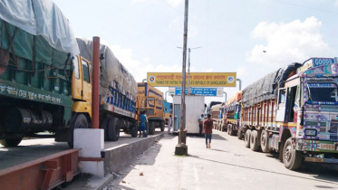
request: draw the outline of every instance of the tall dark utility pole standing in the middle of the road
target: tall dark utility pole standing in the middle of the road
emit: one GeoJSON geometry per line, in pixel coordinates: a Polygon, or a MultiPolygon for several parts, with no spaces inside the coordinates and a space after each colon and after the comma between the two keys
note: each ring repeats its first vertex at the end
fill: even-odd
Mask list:
{"type": "Polygon", "coordinates": [[[179,145],[175,148],[175,155],[188,156],[188,147],[186,145],[186,62],[187,62],[187,39],[188,39],[188,0],[185,0],[184,11],[184,33],[183,33],[183,62],[182,62],[182,92],[180,93],[180,125],[179,125],[179,145]]]}

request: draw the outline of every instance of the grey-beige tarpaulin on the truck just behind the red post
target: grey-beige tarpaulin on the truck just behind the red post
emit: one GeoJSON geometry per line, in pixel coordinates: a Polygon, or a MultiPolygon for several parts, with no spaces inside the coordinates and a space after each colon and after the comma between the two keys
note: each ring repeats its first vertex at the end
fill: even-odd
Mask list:
{"type": "MultiPolygon", "coordinates": [[[[83,58],[92,62],[92,40],[77,38],[80,54],[83,58]]],[[[134,77],[126,70],[126,68],[114,56],[113,52],[107,45],[100,45],[100,54],[103,54],[104,59],[101,60],[101,81],[100,95],[106,96],[109,93],[109,86],[119,88],[119,90],[128,92],[132,97],[137,96],[137,83],[134,77]],[[117,83],[117,86],[115,86],[117,83]]]]}

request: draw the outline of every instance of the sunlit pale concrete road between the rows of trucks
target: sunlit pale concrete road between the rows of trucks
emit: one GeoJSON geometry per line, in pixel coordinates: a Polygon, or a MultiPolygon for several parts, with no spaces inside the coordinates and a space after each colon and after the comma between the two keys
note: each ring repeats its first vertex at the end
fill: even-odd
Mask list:
{"type": "Polygon", "coordinates": [[[174,156],[178,138],[166,135],[107,189],[338,188],[337,166],[306,164],[290,171],[276,155],[253,152],[243,140],[215,130],[211,149],[205,147],[204,138],[187,140],[189,157],[174,156]]]}

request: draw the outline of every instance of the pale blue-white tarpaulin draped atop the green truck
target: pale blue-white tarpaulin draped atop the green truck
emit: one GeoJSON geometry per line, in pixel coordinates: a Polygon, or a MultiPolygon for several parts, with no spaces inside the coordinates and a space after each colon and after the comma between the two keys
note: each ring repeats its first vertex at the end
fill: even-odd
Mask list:
{"type": "Polygon", "coordinates": [[[52,0],[0,0],[0,19],[42,36],[58,51],[80,53],[68,19],[52,0]]]}

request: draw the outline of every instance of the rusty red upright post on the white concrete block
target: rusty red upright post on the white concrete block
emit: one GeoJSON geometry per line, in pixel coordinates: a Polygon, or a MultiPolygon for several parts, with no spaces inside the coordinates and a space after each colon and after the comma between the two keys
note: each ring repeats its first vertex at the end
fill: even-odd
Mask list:
{"type": "Polygon", "coordinates": [[[100,37],[92,37],[92,128],[99,128],[100,37]]]}

